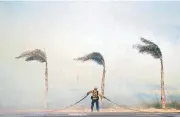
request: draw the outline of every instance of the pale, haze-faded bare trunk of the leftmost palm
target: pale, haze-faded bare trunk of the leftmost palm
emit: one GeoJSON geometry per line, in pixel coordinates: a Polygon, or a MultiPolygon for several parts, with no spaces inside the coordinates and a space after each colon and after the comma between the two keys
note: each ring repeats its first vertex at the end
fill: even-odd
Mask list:
{"type": "Polygon", "coordinates": [[[44,105],[47,108],[47,94],[48,94],[48,63],[45,64],[45,96],[44,96],[44,105]]]}

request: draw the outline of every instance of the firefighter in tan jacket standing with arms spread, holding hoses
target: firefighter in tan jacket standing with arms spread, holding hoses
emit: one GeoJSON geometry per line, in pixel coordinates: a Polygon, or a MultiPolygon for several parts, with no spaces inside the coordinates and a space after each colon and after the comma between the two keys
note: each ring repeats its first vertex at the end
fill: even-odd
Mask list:
{"type": "Polygon", "coordinates": [[[99,96],[102,98],[103,96],[98,92],[97,87],[94,87],[94,90],[87,92],[87,95],[92,94],[91,96],[91,112],[93,112],[94,103],[96,103],[96,110],[99,112],[99,96]]]}

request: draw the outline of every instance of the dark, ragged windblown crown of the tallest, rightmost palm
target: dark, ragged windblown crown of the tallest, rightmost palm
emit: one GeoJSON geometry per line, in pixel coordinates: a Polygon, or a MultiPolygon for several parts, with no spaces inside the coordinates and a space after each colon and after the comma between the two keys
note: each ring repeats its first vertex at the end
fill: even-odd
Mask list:
{"type": "Polygon", "coordinates": [[[155,59],[159,59],[162,57],[161,50],[156,44],[144,38],[141,38],[141,41],[144,42],[146,45],[137,44],[133,46],[134,48],[138,49],[139,53],[150,54],[155,59]]]}

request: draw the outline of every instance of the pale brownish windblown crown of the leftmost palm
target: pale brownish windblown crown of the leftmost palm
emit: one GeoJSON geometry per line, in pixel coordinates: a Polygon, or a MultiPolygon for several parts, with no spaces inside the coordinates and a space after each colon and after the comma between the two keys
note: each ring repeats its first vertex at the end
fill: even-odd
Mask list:
{"type": "Polygon", "coordinates": [[[46,54],[40,49],[35,49],[32,51],[23,52],[20,56],[16,57],[17,59],[26,57],[25,61],[39,61],[39,62],[46,62],[46,54]]]}

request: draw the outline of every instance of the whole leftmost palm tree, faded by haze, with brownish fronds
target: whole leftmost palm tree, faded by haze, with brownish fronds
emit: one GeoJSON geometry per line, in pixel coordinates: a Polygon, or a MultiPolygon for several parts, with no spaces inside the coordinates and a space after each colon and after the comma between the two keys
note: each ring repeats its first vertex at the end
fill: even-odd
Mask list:
{"type": "Polygon", "coordinates": [[[16,59],[26,57],[25,61],[39,61],[41,63],[45,63],[45,97],[44,97],[44,105],[47,107],[47,94],[48,94],[48,62],[45,51],[40,49],[35,49],[32,51],[25,51],[20,56],[16,57],[16,59]]]}

